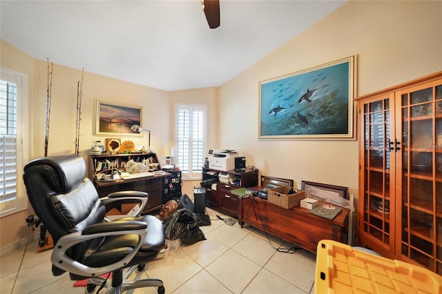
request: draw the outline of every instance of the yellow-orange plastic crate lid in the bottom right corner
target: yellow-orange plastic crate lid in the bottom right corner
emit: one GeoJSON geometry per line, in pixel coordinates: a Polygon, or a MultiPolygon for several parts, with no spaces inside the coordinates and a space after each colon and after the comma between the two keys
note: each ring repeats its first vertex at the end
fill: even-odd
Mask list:
{"type": "Polygon", "coordinates": [[[442,277],[332,240],[318,243],[316,293],[442,293],[442,277]]]}

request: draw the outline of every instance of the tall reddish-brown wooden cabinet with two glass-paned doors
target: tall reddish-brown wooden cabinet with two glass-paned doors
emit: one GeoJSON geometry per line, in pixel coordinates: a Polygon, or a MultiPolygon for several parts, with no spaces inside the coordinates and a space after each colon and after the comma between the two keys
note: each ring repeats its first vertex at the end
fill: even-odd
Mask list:
{"type": "Polygon", "coordinates": [[[357,100],[360,244],[442,275],[442,72],[357,100]]]}

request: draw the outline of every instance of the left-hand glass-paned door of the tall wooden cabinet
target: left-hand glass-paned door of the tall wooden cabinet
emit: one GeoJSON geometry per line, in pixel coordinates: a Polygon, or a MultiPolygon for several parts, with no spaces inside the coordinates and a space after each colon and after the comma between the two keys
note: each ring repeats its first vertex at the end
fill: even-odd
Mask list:
{"type": "Polygon", "coordinates": [[[390,99],[363,104],[364,212],[363,231],[390,248],[394,239],[390,214],[390,99]]]}

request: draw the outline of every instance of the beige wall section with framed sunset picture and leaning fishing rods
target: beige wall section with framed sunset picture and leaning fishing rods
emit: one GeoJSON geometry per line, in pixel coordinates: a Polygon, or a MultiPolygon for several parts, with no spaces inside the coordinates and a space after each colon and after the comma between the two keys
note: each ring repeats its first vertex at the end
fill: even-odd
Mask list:
{"type": "MultiPolygon", "coordinates": [[[[46,77],[47,61],[35,61],[36,77],[39,81],[35,92],[35,156],[44,155],[44,122],[46,119],[46,77]]],[[[50,128],[48,155],[75,152],[77,82],[81,80],[81,70],[54,64],[52,68],[52,99],[50,102],[50,128]]],[[[148,88],[126,81],[119,81],[101,75],[84,72],[83,95],[81,98],[81,121],[79,151],[85,158],[93,141],[104,140],[109,136],[95,136],[95,101],[106,101],[129,106],[142,106],[142,125],[151,130],[151,148],[162,153],[169,147],[169,92],[148,88]],[[160,101],[160,103],[159,103],[160,101]]],[[[147,136],[130,137],[135,144],[147,145],[147,136]]],[[[170,148],[170,147],[169,147],[170,148]]]]}

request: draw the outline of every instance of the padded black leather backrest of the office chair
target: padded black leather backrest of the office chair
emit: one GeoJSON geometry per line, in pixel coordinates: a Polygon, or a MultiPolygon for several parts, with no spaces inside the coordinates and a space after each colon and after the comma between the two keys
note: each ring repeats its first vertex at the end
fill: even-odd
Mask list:
{"type": "MultiPolygon", "coordinates": [[[[86,164],[79,155],[43,157],[24,168],[30,204],[55,243],[63,235],[104,220],[106,208],[85,173],[86,164]]],[[[74,259],[84,253],[88,244],[78,247],[73,248],[74,259]]]]}

